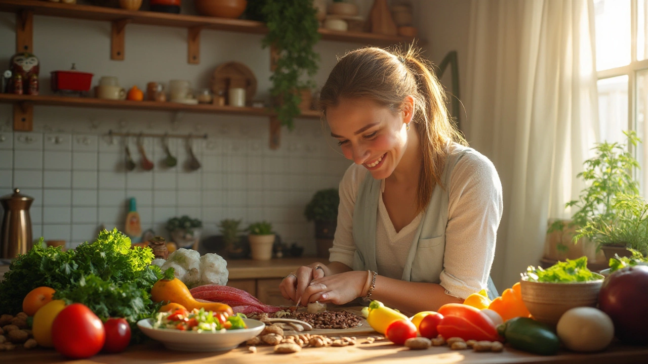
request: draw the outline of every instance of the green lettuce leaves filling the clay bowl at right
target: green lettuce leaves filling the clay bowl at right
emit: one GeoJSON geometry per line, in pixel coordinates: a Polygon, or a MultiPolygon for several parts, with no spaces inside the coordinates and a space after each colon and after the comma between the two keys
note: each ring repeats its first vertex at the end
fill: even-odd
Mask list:
{"type": "Polygon", "coordinates": [[[566,262],[557,262],[547,269],[529,266],[522,277],[527,277],[529,282],[570,283],[586,282],[588,280],[603,279],[602,275],[592,273],[587,269],[587,256],[566,262]]]}

